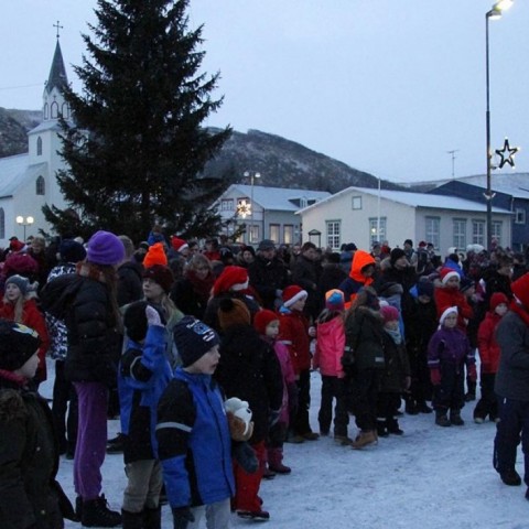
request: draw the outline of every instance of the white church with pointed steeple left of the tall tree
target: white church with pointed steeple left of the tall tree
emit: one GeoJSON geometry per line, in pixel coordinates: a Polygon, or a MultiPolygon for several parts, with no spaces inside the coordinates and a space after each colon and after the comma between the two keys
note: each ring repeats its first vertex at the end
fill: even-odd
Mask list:
{"type": "Polygon", "coordinates": [[[43,121],[28,132],[28,152],[0,159],[0,248],[9,238],[20,240],[39,235],[39,229],[52,233],[42,206],[66,206],[55,173],[65,168],[57,154],[61,150],[58,116],[69,118],[69,108],[61,95],[67,84],[63,54],[57,39],[50,77],[44,87],[43,121]]]}

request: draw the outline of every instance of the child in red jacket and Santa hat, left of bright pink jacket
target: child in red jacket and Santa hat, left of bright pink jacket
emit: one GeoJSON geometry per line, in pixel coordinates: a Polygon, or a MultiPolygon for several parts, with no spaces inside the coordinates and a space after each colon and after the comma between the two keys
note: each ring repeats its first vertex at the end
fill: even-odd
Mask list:
{"type": "MultiPolygon", "coordinates": [[[[307,293],[292,284],[283,290],[283,305],[279,310],[279,339],[289,349],[295,384],[298,385],[298,410],[290,423],[289,442],[315,441],[320,435],[309,422],[311,406],[311,352],[309,320],[303,315],[307,293]]],[[[313,337],[315,332],[311,330],[313,337]]]]}

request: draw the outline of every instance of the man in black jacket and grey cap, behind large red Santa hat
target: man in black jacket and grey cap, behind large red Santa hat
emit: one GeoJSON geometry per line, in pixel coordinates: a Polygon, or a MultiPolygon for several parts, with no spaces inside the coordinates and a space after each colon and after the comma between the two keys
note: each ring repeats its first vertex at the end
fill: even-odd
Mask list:
{"type": "Polygon", "coordinates": [[[259,242],[256,260],[248,267],[248,276],[264,309],[274,311],[281,305],[283,289],[289,284],[289,271],[277,256],[273,240],[259,242]]]}

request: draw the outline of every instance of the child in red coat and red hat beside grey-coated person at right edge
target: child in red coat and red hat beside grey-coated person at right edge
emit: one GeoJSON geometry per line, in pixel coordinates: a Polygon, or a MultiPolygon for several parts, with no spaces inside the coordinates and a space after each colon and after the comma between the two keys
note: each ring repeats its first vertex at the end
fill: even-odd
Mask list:
{"type": "Polygon", "coordinates": [[[496,328],[507,314],[509,300],[503,292],[495,292],[490,296],[490,311],[479,325],[477,332],[477,350],[482,360],[479,386],[482,398],[474,410],[474,422],[482,424],[489,417],[490,421],[498,419],[498,400],[494,392],[494,382],[499,366],[500,348],[496,342],[496,328]]]}

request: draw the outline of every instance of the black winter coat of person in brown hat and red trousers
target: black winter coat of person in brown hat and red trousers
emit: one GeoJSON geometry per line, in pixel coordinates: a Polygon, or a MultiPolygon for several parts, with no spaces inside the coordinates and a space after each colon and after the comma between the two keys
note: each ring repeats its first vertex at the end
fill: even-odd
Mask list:
{"type": "Polygon", "coordinates": [[[246,400],[253,413],[250,443],[266,439],[270,411],[281,409],[283,379],[270,344],[249,325],[229,327],[220,342],[220,361],[215,378],[226,398],[246,400]]]}

